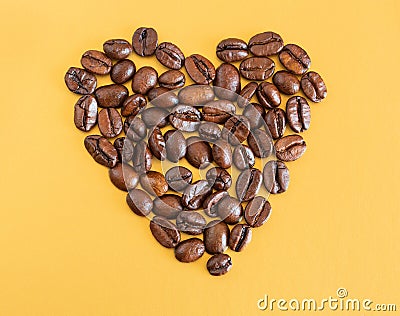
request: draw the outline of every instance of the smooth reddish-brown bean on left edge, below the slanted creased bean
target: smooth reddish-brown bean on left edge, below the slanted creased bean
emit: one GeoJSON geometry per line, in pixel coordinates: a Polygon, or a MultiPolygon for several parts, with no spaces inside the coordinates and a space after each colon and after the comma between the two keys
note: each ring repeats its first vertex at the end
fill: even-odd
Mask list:
{"type": "Polygon", "coordinates": [[[117,163],[115,167],[108,170],[112,184],[122,191],[130,191],[139,183],[139,176],[128,164],[117,163]]]}

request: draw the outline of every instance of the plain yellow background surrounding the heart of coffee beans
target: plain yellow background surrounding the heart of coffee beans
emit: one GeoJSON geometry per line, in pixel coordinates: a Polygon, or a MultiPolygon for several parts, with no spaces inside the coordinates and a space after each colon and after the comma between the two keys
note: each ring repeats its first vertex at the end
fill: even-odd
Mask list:
{"type": "Polygon", "coordinates": [[[338,287],[400,309],[398,1],[1,7],[0,315],[281,315],[257,300],[322,299],[338,287]],[[288,192],[271,197],[270,221],[231,253],[224,277],[208,275],[208,255],[182,264],[153,240],[73,124],[67,68],[140,26],[216,64],[221,39],[274,30],[307,50],[328,86],[311,104],[308,150],[289,164],[288,192]]]}

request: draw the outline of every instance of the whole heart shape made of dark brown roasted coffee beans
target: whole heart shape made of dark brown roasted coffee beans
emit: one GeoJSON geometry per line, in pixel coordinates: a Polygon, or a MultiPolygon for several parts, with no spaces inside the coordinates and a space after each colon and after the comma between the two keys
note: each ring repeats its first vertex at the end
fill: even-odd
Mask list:
{"type": "Polygon", "coordinates": [[[271,214],[268,200],[258,195],[262,185],[271,194],[285,192],[285,162],[306,150],[299,133],[310,127],[310,106],[296,94],[302,90],[309,100],[320,102],[327,89],[321,76],[309,71],[307,52],[284,45],[274,32],[257,34],[247,43],[224,39],[216,54],[223,61],[217,68],[202,55],[185,57],[175,44],[159,43],[154,29],[141,27],[132,42],[111,39],[103,51],[86,51],[83,68],[68,69],[65,83],[82,95],[75,104],[76,127],[89,132],[98,125],[101,133],[87,136],[85,148],[109,168],[111,182],[128,192],[131,210],[154,215],[153,236],[174,248],[179,261],[192,262],[207,252],[212,255],[209,273],[222,275],[232,267],[225,250],[242,251],[252,229],[271,214]],[[150,66],[136,69],[128,59],[133,51],[155,56],[169,70],[158,74],[150,66]],[[278,60],[285,70],[275,72],[278,60]],[[185,85],[183,69],[194,85],[185,85]],[[104,75],[113,84],[97,87],[96,76],[104,75]],[[243,88],[241,78],[248,80],[243,88]],[[285,109],[280,107],[282,94],[291,96],[285,109]],[[178,165],[164,174],[153,170],[155,159],[178,165]],[[192,171],[179,165],[182,159],[198,169],[214,165],[205,179],[193,182],[192,171]],[[257,159],[267,159],[262,171],[255,168],[257,159]],[[229,172],[232,166],[240,172],[236,179],[229,172]],[[228,192],[231,186],[235,194],[228,192]],[[183,240],[181,234],[203,239],[183,240]]]}

